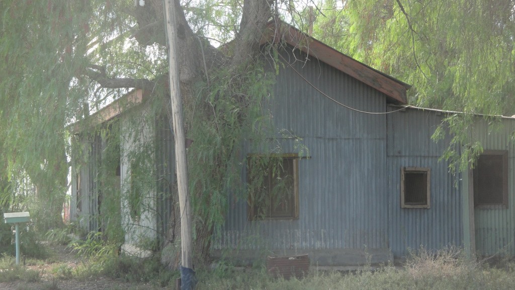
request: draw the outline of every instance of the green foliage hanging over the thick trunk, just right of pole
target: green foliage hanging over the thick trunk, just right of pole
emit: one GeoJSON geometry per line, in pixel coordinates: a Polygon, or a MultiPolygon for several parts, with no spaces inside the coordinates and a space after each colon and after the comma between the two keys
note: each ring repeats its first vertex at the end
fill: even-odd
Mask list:
{"type": "Polygon", "coordinates": [[[193,116],[187,134],[194,140],[188,149],[188,174],[200,243],[209,243],[213,230],[224,223],[228,188],[243,188],[243,141],[260,143],[271,132],[262,104],[270,98],[273,82],[261,63],[238,72],[220,70],[212,75],[209,90],[200,88],[198,100],[185,107],[186,115],[193,116]]]}

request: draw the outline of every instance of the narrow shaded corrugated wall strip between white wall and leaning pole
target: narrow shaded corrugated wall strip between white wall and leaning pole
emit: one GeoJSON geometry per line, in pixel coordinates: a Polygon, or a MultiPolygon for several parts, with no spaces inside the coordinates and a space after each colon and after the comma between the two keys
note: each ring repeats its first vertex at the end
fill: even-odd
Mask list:
{"type": "Polygon", "coordinates": [[[157,231],[163,243],[174,214],[172,190],[176,188],[174,133],[166,114],[156,120],[156,173],[157,173],[157,231]]]}

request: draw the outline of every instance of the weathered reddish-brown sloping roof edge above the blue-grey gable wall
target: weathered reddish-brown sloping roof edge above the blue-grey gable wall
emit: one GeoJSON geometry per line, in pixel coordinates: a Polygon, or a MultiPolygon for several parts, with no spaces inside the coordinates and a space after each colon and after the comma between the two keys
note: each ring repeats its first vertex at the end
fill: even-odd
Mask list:
{"type": "Polygon", "coordinates": [[[261,39],[261,44],[279,42],[281,40],[307,55],[312,55],[335,69],[383,92],[388,96],[389,103],[407,104],[406,90],[411,88],[410,85],[340,53],[327,44],[302,33],[302,31],[281,20],[270,21],[261,39]]]}

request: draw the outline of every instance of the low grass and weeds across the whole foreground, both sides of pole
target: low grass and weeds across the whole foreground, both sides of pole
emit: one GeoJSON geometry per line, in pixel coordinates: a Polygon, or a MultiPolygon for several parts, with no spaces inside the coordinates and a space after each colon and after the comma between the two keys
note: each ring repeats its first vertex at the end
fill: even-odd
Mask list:
{"type": "MultiPolygon", "coordinates": [[[[31,260],[35,265],[44,261],[31,260]]],[[[301,280],[284,280],[268,275],[263,265],[235,268],[222,262],[216,267],[197,271],[196,289],[513,289],[515,263],[504,259],[494,265],[467,260],[456,248],[438,252],[420,249],[412,254],[403,267],[386,265],[376,270],[337,272],[312,270],[301,280]]],[[[99,277],[119,279],[130,283],[113,285],[111,289],[174,289],[177,271],[164,269],[158,257],[138,260],[132,257],[106,256],[104,259],[84,261],[76,268],[65,263],[54,263],[47,270],[49,282],[40,282],[42,273],[15,266],[14,258],[0,258],[0,282],[39,282],[36,288],[53,289],[56,281],[85,281],[99,277]]],[[[32,287],[25,284],[25,287],[32,287]]],[[[22,286],[23,288],[23,286],[22,286]]],[[[32,287],[33,288],[33,287],[32,287]]]]}

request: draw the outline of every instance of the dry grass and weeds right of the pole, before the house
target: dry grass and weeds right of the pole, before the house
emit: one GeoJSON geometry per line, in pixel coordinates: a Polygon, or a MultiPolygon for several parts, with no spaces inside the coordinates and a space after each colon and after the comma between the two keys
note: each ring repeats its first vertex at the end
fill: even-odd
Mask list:
{"type": "Polygon", "coordinates": [[[266,269],[242,272],[231,270],[224,275],[198,273],[201,289],[513,289],[515,264],[492,267],[465,259],[455,248],[436,253],[421,249],[403,268],[384,266],[374,271],[341,273],[312,271],[302,280],[274,279],[266,269]]]}

